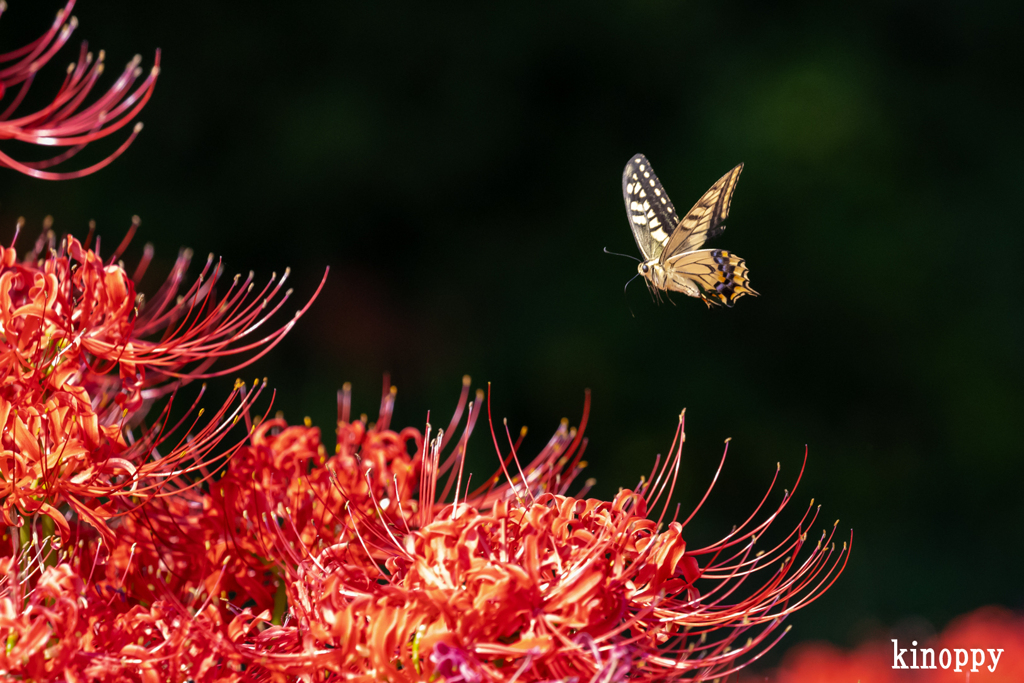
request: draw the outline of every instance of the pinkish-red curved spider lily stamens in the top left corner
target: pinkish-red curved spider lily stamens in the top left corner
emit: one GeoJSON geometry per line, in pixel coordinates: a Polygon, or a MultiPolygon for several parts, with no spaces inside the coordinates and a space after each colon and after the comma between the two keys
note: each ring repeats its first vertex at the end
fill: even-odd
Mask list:
{"type": "MultiPolygon", "coordinates": [[[[78,19],[71,15],[74,6],[75,0],[68,0],[46,33],[28,45],[0,54],[0,139],[68,147],[55,157],[37,162],[19,162],[0,152],[0,166],[36,178],[79,178],[98,171],[120,157],[142,129],[141,123],[133,126],[128,138],[114,153],[91,166],[66,172],[45,170],[71,159],[88,143],[130,124],[148,101],[160,74],[160,50],[157,50],[148,75],[136,85],[142,77],[139,67],[141,57],[136,55],[106,92],[86,103],[105,65],[102,50],[93,58],[87,44],[82,43],[78,60],[68,67],[63,83],[52,101],[37,112],[14,117],[36,74],[68,42],[78,26],[78,19]]],[[[0,5],[0,13],[4,9],[6,3],[0,5]]]]}

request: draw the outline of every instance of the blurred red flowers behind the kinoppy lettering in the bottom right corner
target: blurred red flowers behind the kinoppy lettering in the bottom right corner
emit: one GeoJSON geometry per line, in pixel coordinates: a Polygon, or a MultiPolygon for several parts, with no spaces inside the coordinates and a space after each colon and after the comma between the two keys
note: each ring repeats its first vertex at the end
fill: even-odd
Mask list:
{"type": "MultiPolygon", "coordinates": [[[[921,641],[896,638],[903,649],[903,657],[896,660],[900,667],[894,669],[893,636],[870,639],[852,651],[835,645],[809,642],[797,645],[785,653],[782,664],[768,675],[744,676],[739,683],[963,683],[964,681],[986,681],[987,683],[1018,683],[1024,681],[1024,616],[1015,614],[1005,607],[982,607],[956,617],[942,631],[921,641]],[[913,643],[913,645],[911,645],[913,643]],[[908,651],[916,649],[918,658],[908,651]],[[934,650],[934,669],[922,668],[931,664],[924,649],[934,650]],[[943,649],[950,653],[959,648],[964,651],[981,650],[985,653],[983,665],[974,666],[974,652],[963,666],[956,665],[954,654],[943,659],[943,649]],[[999,652],[993,659],[988,650],[999,652]],[[947,666],[943,668],[942,661],[947,666]],[[914,666],[915,669],[910,669],[914,666]],[[956,671],[959,669],[959,671],[956,671]],[[976,670],[973,671],[972,670],[976,670]]],[[[898,650],[897,650],[898,652],[898,650]]],[[[931,657],[932,654],[929,654],[931,657]]],[[[967,655],[965,654],[964,657],[967,655]]],[[[962,659],[964,658],[962,657],[962,659]]]]}

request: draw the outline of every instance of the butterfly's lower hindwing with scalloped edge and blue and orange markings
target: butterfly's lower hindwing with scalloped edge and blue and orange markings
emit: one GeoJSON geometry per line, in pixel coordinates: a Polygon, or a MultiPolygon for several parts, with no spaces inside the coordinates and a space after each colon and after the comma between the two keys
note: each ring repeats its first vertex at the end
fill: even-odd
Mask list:
{"type": "Polygon", "coordinates": [[[732,307],[751,289],[746,262],[722,249],[700,249],[671,256],[665,262],[668,289],[703,299],[709,306],[732,307]],[[694,286],[696,288],[694,289],[694,286]]]}

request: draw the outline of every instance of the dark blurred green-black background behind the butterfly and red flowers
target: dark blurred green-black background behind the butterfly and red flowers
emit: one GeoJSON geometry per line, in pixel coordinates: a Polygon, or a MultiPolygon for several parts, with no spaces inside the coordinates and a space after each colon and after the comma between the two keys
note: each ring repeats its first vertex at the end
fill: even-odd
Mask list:
{"type": "MultiPolygon", "coordinates": [[[[608,496],[686,407],[684,507],[733,437],[691,543],[743,519],[776,461],[790,485],[809,444],[795,507],[823,502],[855,547],[791,639],[1024,606],[1021,5],[425,4],[80,3],[75,40],[112,67],[164,49],[145,130],[84,180],[4,172],[0,236],[94,218],[109,251],[139,214],[129,262],[152,241],[163,271],[181,245],[230,272],[290,265],[299,298],[330,265],[245,373],[329,432],[346,380],[375,414],[389,371],[396,423],[421,426],[469,373],[532,453],[589,387],[608,496]],[[760,298],[658,307],[638,282],[624,300],[635,264],[601,250],[635,252],[637,152],[680,210],[745,162],[715,246],[760,298]]],[[[10,5],[4,49],[57,8],[10,5]]]]}

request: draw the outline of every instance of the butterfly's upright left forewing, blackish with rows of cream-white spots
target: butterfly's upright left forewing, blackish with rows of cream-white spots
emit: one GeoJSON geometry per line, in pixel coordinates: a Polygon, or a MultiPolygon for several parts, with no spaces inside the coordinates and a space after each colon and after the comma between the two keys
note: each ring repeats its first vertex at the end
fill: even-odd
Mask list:
{"type": "Polygon", "coordinates": [[[644,260],[658,258],[679,223],[679,216],[643,155],[631,159],[623,171],[623,201],[644,260]]]}

